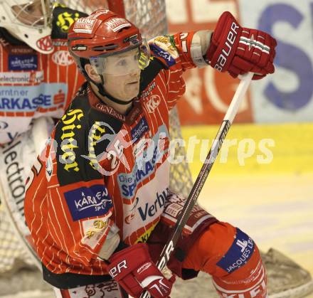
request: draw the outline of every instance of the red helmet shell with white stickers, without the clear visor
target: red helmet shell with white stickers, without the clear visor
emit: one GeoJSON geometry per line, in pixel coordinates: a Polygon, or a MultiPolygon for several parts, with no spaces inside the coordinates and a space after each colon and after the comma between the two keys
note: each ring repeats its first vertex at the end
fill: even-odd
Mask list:
{"type": "Polygon", "coordinates": [[[78,18],[68,32],[70,54],[83,72],[83,59],[115,55],[142,43],[139,29],[133,23],[107,9],[78,18]]]}

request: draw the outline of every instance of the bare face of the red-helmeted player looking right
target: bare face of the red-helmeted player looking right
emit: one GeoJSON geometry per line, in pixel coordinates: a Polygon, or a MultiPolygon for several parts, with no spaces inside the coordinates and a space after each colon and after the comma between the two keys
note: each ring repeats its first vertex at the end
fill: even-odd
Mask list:
{"type": "Polygon", "coordinates": [[[139,93],[139,50],[133,49],[107,57],[103,73],[105,90],[118,100],[131,100],[139,93]]]}

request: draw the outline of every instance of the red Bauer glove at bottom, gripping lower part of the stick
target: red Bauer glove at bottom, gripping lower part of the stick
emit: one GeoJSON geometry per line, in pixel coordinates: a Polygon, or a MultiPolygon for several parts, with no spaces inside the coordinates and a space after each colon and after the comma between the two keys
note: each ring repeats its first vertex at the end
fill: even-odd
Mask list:
{"type": "Polygon", "coordinates": [[[132,297],[140,297],[144,289],[156,298],[169,297],[174,277],[166,280],[152,262],[147,244],[135,244],[110,257],[110,275],[132,297]]]}

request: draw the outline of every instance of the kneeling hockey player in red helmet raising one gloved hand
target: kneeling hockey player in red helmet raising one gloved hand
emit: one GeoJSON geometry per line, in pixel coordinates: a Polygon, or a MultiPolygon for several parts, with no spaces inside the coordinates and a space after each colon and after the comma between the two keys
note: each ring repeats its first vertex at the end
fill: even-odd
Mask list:
{"type": "MultiPolygon", "coordinates": [[[[185,201],[169,189],[169,110],[182,74],[211,65],[263,78],[276,41],[225,12],[213,32],[148,46],[132,23],[99,10],[75,21],[68,46],[87,82],[33,166],[25,200],[43,277],[62,297],[169,297],[174,277],[155,262],[185,201]]],[[[168,266],[184,280],[207,272],[221,297],[267,296],[254,241],[199,206],[168,266]]]]}

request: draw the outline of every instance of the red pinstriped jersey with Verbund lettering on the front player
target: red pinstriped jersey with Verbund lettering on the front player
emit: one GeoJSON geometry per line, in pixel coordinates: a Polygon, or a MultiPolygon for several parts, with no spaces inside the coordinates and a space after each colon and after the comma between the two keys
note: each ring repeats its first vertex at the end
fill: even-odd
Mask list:
{"type": "Polygon", "coordinates": [[[25,216],[48,270],[107,273],[97,254],[112,223],[132,245],[146,242],[169,190],[169,110],[184,94],[184,71],[195,67],[193,33],[150,41],[140,95],[125,116],[103,104],[87,83],[33,166],[25,216]]]}

